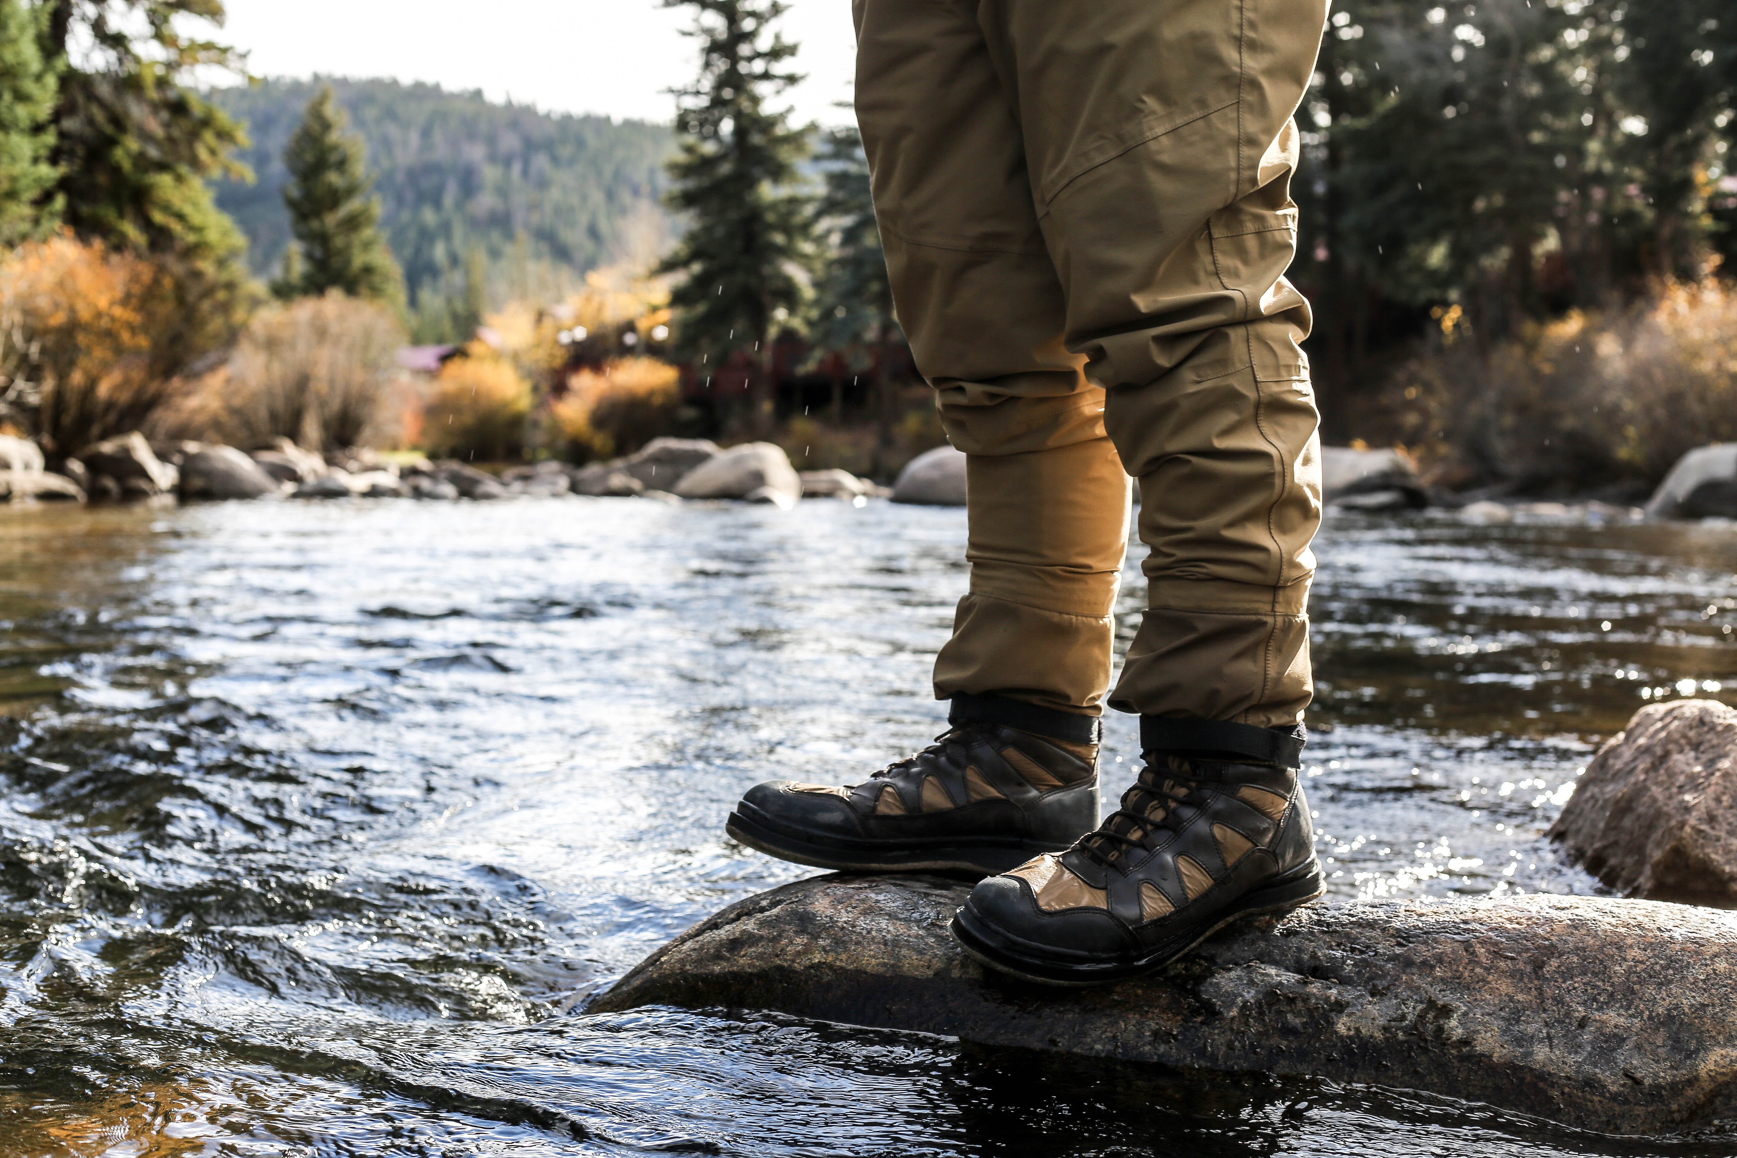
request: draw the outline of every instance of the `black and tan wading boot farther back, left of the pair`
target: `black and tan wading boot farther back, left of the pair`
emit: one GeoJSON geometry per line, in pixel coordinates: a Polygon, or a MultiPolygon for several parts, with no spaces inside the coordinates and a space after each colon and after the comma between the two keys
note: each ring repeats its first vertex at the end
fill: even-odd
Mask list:
{"type": "Polygon", "coordinates": [[[1001,873],[1098,823],[1096,717],[959,694],[948,724],[855,786],[756,785],[724,830],[816,868],[1001,873]]]}

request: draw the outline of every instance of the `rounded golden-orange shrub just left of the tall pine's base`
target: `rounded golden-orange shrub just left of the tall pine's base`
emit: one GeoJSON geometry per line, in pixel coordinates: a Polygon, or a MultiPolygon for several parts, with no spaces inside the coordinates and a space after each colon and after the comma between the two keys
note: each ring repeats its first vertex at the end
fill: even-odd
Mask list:
{"type": "Polygon", "coordinates": [[[570,375],[549,417],[568,455],[584,462],[625,455],[669,434],[679,401],[674,366],[655,358],[622,358],[570,375]]]}

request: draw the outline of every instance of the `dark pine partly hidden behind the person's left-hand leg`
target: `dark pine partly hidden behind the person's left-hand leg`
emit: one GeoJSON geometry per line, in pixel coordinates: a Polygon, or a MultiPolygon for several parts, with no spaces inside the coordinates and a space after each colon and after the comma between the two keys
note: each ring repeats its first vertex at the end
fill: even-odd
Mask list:
{"type": "Polygon", "coordinates": [[[875,455],[881,474],[893,450],[898,418],[898,384],[893,359],[900,328],[893,316],[893,286],[881,252],[881,227],[868,188],[868,158],[862,134],[834,128],[820,155],[825,191],[815,203],[815,231],[823,238],[827,260],[815,283],[815,345],[844,354],[848,365],[865,368],[874,384],[875,455]]]}

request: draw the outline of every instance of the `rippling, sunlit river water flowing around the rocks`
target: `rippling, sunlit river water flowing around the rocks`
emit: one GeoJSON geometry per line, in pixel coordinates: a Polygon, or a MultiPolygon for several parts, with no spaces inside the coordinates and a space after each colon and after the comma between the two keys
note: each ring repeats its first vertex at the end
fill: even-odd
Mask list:
{"type": "MultiPolygon", "coordinates": [[[[589,995],[809,870],[723,837],[855,781],[964,517],[870,503],[0,512],[0,1155],[1725,1155],[589,995]]],[[[1124,642],[1138,608],[1138,556],[1124,642]]],[[[1737,689],[1737,530],[1341,517],[1308,786],[1339,899],[1596,892],[1591,745],[1737,689]]],[[[1110,720],[1108,790],[1138,762],[1110,720]]]]}

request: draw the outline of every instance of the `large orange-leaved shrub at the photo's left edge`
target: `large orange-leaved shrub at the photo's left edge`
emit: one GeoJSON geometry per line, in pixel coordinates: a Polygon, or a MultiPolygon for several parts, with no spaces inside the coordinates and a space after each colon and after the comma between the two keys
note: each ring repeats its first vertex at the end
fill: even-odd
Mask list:
{"type": "Polygon", "coordinates": [[[57,234],[0,257],[0,418],[50,462],[149,429],[231,337],[196,273],[57,234]]]}

